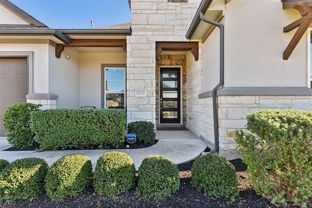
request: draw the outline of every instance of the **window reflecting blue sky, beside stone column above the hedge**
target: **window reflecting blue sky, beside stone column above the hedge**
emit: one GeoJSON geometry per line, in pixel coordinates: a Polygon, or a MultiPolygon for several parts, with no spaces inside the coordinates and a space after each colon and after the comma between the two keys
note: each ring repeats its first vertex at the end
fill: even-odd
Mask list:
{"type": "Polygon", "coordinates": [[[103,108],[120,108],[126,106],[126,69],[123,67],[104,67],[102,92],[103,108]]]}

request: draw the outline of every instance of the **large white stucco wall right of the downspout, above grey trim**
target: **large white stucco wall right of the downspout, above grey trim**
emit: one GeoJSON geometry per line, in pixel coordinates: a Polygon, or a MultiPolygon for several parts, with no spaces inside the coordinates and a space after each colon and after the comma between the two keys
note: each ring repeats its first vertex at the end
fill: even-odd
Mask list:
{"type": "Polygon", "coordinates": [[[307,34],[283,60],[296,29],[283,28],[300,19],[280,0],[232,0],[226,4],[224,87],[307,86],[307,34]]]}

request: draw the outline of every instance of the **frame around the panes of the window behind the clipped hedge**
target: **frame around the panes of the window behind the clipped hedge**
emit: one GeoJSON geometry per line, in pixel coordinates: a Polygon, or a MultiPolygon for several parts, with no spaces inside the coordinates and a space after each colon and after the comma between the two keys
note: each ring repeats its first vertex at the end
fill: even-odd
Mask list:
{"type": "Polygon", "coordinates": [[[106,94],[124,94],[124,109],[127,105],[127,86],[126,86],[126,64],[102,64],[101,65],[101,108],[106,106],[106,94]],[[123,69],[124,70],[124,92],[106,92],[106,69],[123,69]]]}

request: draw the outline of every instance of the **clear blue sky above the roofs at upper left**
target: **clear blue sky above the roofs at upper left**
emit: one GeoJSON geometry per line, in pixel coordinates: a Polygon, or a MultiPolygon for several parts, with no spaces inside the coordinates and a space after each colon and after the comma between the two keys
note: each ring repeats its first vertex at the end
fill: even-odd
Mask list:
{"type": "Polygon", "coordinates": [[[52,29],[89,29],[131,22],[128,0],[10,0],[52,29]]]}

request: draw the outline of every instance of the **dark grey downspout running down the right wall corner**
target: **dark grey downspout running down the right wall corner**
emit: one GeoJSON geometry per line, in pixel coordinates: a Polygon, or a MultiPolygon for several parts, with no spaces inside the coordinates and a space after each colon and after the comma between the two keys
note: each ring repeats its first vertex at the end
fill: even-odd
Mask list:
{"type": "Polygon", "coordinates": [[[220,82],[213,90],[215,148],[210,151],[211,153],[215,153],[219,150],[218,106],[216,92],[224,83],[224,26],[220,22],[206,18],[203,12],[200,12],[199,17],[202,21],[217,26],[220,29],[220,82]]]}

